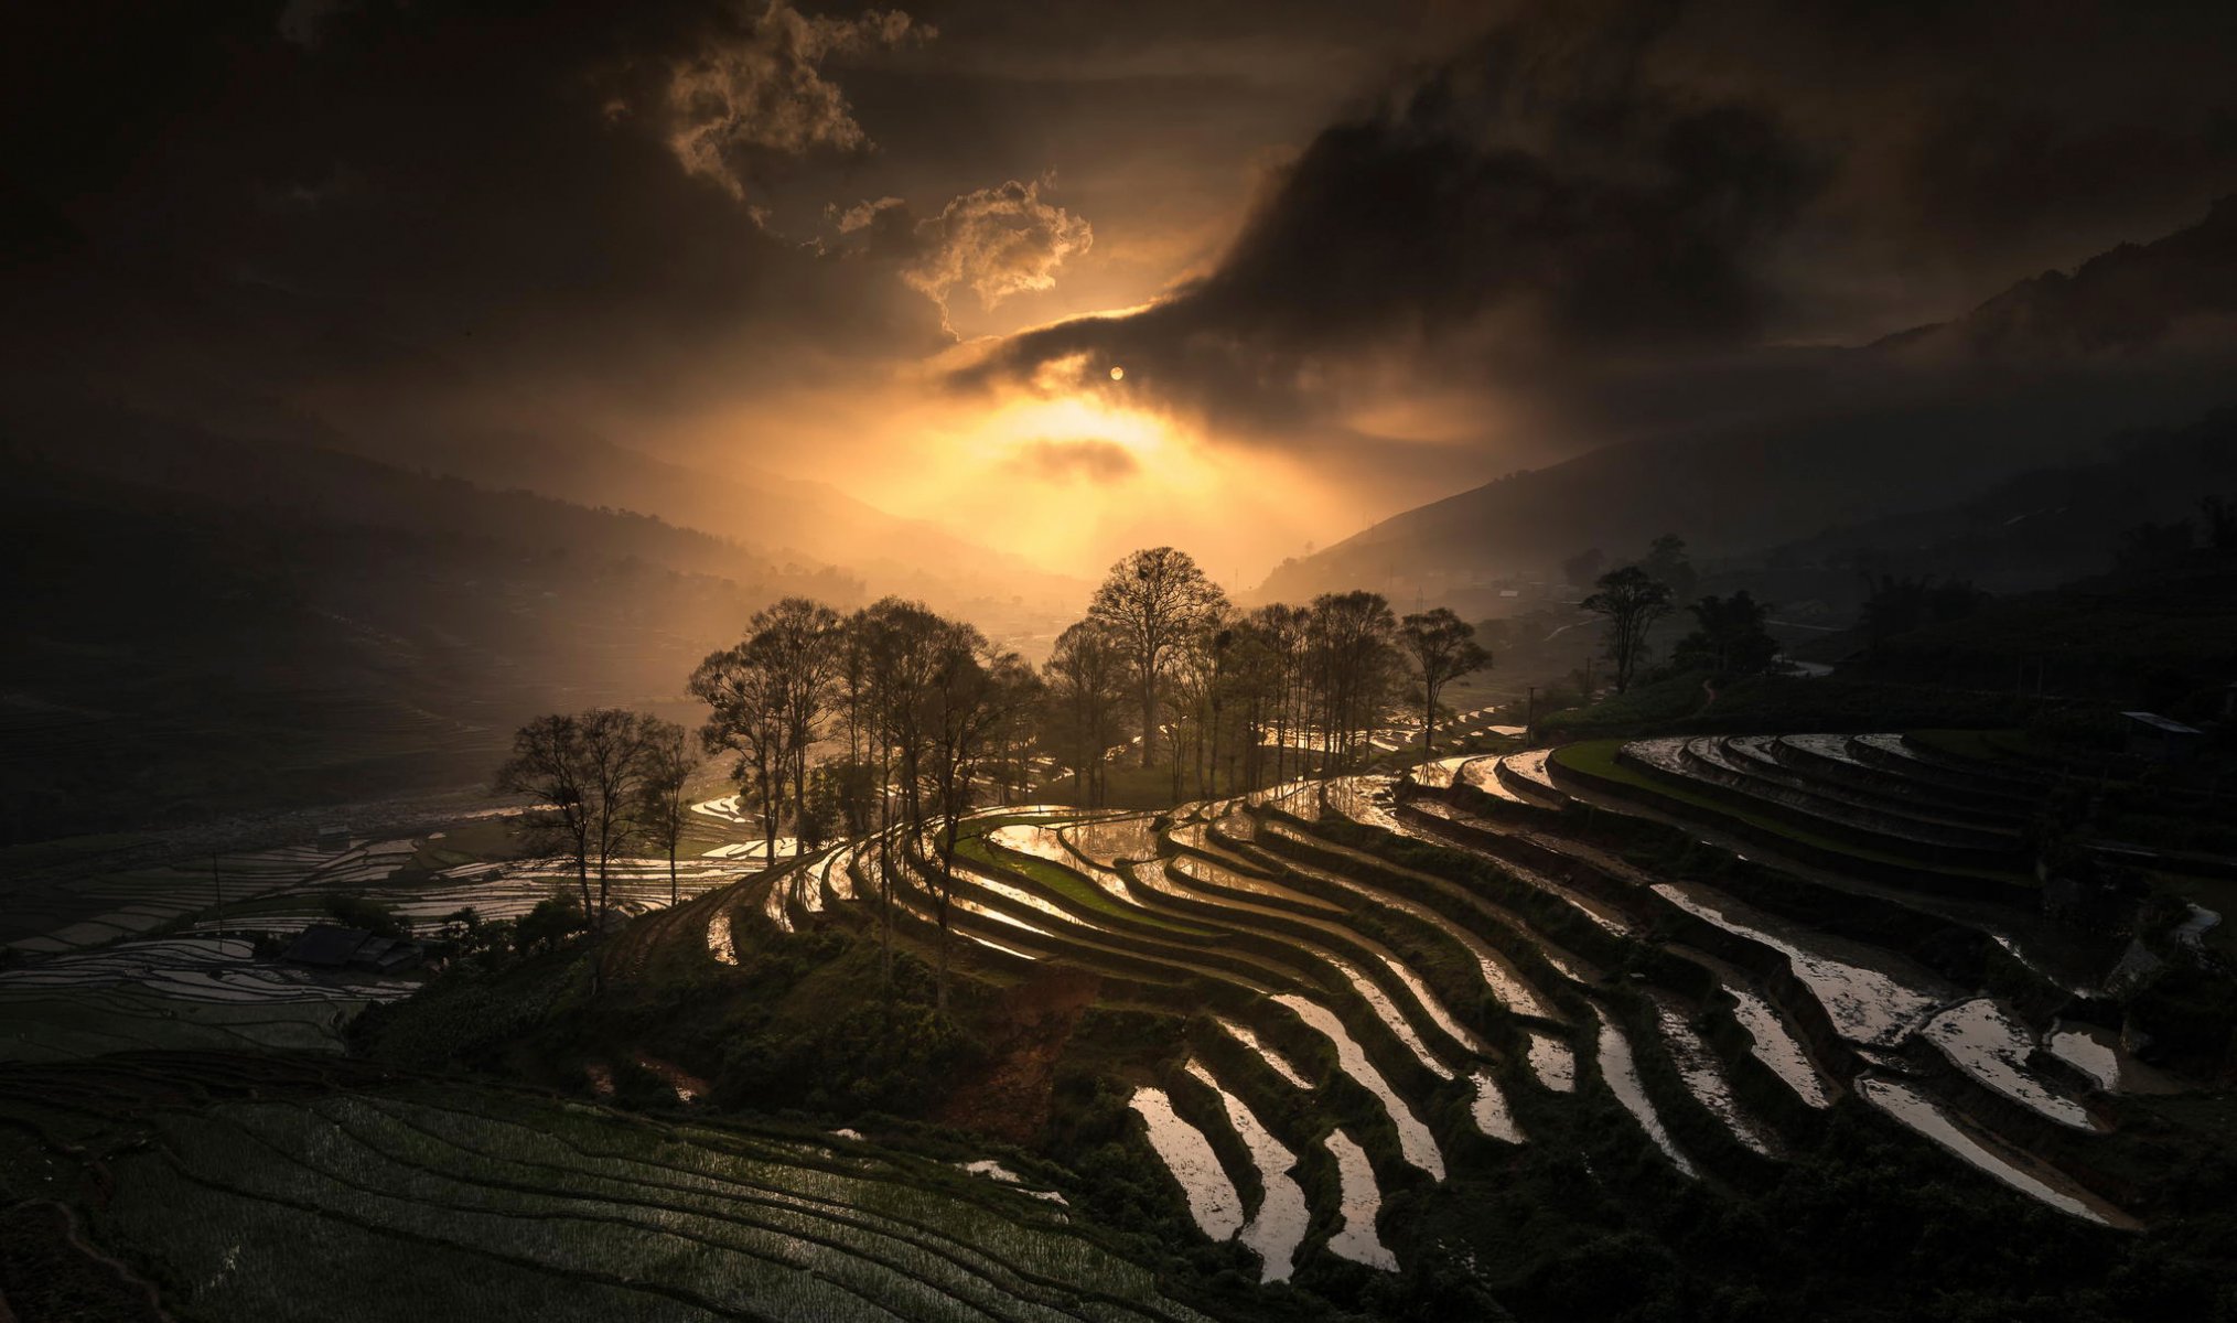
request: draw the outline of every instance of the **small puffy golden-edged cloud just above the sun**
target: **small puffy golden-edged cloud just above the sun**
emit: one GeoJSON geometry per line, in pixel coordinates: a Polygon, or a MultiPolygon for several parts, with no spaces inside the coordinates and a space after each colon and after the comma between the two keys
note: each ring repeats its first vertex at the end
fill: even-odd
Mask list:
{"type": "Polygon", "coordinates": [[[902,280],[946,320],[957,289],[993,309],[1016,293],[1054,289],[1058,266],[1094,244],[1087,217],[1042,201],[1042,184],[1009,179],[975,188],[924,219],[899,197],[832,206],[825,217],[852,251],[899,262],[902,280]]]}

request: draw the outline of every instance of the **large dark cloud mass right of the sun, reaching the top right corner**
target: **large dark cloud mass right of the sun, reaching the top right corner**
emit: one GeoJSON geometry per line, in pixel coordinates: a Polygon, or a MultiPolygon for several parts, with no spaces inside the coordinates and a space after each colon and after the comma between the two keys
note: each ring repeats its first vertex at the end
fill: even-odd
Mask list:
{"type": "Polygon", "coordinates": [[[1506,7],[1313,137],[1208,275],[1009,338],[953,381],[1112,390],[1101,365],[1123,360],[1125,390],[1217,432],[1342,448],[1358,381],[1400,376],[1604,439],[1637,401],[1765,374],[1745,358],[1767,345],[1868,340],[1960,313],[2038,255],[2192,222],[2237,186],[2237,92],[2215,72],[2237,67],[2233,25],[2226,4],[2148,22],[2114,4],[1506,7]]]}

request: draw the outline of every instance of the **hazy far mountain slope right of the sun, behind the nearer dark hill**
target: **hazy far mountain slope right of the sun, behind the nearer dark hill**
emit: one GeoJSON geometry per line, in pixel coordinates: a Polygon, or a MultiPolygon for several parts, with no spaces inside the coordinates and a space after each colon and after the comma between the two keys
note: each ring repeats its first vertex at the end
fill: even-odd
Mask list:
{"type": "Polygon", "coordinates": [[[1729,555],[1937,506],[2089,459],[2127,428],[2237,396],[2237,199],[2197,226],[2045,273],[1951,322],[1854,349],[1783,349],[1693,387],[1673,425],[1501,477],[1284,562],[1259,598],[1367,584],[1443,598],[1660,533],[1729,555]],[[1714,425],[1682,425],[1687,416],[1714,425]]]}

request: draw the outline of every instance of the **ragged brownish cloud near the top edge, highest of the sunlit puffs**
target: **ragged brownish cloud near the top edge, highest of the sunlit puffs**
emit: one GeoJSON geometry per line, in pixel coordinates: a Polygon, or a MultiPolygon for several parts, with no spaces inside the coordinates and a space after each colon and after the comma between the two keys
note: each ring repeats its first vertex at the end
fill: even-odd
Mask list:
{"type": "Polygon", "coordinates": [[[832,56],[931,40],[937,31],[897,9],[861,18],[805,16],[785,0],[745,31],[709,36],[678,60],[667,87],[669,150],[689,175],[736,199],[758,163],[810,152],[872,148],[846,92],[823,76],[832,56]]]}

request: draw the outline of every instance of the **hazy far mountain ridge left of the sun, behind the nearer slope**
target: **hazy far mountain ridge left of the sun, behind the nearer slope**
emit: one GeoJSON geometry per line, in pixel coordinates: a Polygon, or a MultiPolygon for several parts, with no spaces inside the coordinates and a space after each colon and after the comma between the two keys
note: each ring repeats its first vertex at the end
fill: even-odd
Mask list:
{"type": "Polygon", "coordinates": [[[1089,584],[1045,573],[825,484],[736,468],[707,472],[579,425],[494,428],[548,416],[508,394],[461,347],[405,334],[371,304],[284,289],[181,260],[116,257],[67,222],[0,197],[0,233],[40,257],[9,264],[0,363],[11,416],[78,419],[85,445],[130,412],[186,432],[356,452],[472,484],[655,515],[752,548],[772,564],[839,566],[870,595],[933,607],[1076,609],[1089,584]]]}

